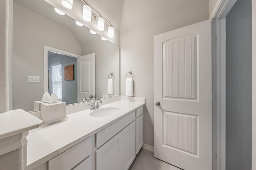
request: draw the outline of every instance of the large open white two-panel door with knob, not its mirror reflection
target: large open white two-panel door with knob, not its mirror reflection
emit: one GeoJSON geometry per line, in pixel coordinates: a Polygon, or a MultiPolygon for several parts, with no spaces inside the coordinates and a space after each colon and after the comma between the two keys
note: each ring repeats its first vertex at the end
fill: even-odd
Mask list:
{"type": "Polygon", "coordinates": [[[155,157],[212,169],[211,21],[154,37],[155,157]]]}

